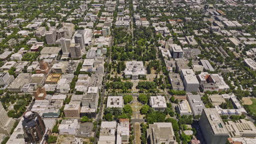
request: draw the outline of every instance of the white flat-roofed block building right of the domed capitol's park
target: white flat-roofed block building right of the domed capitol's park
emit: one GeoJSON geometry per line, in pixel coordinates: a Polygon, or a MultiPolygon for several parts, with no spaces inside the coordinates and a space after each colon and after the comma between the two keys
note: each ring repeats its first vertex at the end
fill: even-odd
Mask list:
{"type": "Polygon", "coordinates": [[[181,79],[183,80],[186,92],[197,92],[199,82],[196,79],[196,75],[192,69],[182,69],[181,79]]]}

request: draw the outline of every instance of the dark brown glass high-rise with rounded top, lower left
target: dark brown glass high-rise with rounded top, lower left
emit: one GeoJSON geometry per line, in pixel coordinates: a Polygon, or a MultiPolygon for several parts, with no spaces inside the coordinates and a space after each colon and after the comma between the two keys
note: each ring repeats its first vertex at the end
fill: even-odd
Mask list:
{"type": "Polygon", "coordinates": [[[26,143],[39,143],[43,139],[46,129],[43,119],[33,111],[27,111],[23,117],[22,127],[26,143]]]}

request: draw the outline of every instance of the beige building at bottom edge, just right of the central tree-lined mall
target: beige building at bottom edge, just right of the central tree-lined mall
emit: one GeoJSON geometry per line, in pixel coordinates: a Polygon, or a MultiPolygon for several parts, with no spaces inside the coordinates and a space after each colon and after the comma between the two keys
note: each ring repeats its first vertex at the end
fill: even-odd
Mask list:
{"type": "Polygon", "coordinates": [[[149,124],[147,139],[149,144],[176,143],[172,123],[149,124]]]}

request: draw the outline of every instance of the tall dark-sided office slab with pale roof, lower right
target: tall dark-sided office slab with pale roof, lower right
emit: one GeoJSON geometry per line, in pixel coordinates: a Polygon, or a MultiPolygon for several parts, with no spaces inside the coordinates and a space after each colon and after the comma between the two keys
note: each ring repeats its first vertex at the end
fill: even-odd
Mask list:
{"type": "Polygon", "coordinates": [[[226,143],[229,131],[215,108],[203,109],[199,125],[207,144],[226,143]]]}

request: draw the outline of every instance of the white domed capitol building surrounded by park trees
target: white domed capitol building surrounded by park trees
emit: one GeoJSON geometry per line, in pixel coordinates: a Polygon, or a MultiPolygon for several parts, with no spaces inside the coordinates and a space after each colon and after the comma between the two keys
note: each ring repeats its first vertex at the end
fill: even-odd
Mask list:
{"type": "Polygon", "coordinates": [[[139,79],[139,77],[146,76],[146,69],[143,66],[143,62],[131,61],[126,62],[126,68],[124,70],[126,78],[131,78],[133,80],[139,79]]]}

